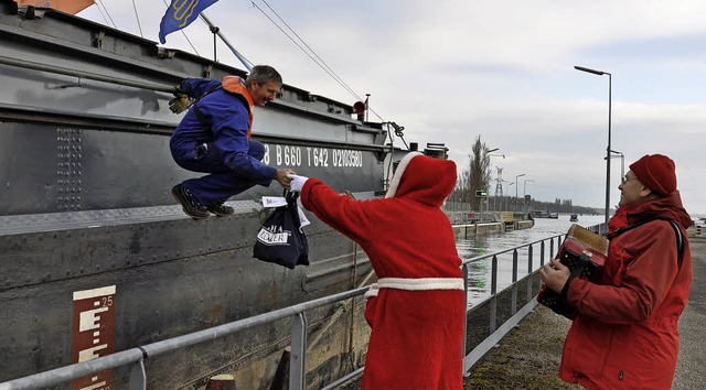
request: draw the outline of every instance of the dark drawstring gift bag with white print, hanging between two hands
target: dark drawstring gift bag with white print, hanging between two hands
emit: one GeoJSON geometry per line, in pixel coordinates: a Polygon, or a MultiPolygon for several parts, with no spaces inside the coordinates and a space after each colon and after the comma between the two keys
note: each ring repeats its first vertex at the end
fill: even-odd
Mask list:
{"type": "Polygon", "coordinates": [[[309,266],[309,242],[301,230],[298,193],[285,191],[286,206],[276,207],[257,232],[253,257],[293,269],[309,266]]]}

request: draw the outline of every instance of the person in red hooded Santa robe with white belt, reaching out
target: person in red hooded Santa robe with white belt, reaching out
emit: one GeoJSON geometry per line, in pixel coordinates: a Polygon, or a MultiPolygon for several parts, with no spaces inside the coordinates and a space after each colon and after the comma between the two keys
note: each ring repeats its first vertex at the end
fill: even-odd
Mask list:
{"type": "Polygon", "coordinates": [[[456,185],[456,164],[409,153],[385,197],[368,201],[289,177],[302,205],[357,242],[378,278],[365,294],[371,339],[362,389],[462,389],[463,275],[440,208],[456,185]]]}

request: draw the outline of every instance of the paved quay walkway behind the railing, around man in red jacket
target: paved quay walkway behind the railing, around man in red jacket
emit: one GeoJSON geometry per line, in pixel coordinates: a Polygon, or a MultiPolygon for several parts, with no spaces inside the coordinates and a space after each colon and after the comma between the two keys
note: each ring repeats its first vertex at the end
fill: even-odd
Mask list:
{"type": "MultiPolygon", "coordinates": [[[[693,237],[694,281],[680,321],[680,358],[673,390],[706,389],[706,238],[693,237]]],[[[570,322],[538,305],[466,378],[466,389],[581,389],[557,378],[570,322]]]]}

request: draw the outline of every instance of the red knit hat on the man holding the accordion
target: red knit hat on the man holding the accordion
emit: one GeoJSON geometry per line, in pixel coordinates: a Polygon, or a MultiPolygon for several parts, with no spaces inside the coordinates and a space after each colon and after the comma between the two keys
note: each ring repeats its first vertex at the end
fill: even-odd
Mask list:
{"type": "Polygon", "coordinates": [[[630,164],[630,170],[653,193],[664,196],[676,191],[674,161],[662,154],[645,154],[630,164]]]}

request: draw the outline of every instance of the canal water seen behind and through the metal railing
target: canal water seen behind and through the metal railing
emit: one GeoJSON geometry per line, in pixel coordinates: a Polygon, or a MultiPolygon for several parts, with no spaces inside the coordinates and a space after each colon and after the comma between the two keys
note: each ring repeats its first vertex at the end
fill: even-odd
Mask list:
{"type": "MultiPolygon", "coordinates": [[[[605,216],[579,216],[578,225],[589,227],[605,221],[605,216]]],[[[513,247],[538,241],[556,235],[565,235],[575,224],[569,221],[568,215],[559,215],[558,219],[537,218],[534,227],[523,230],[481,235],[473,239],[458,240],[457,250],[459,257],[466,261],[478,256],[494,253],[513,247]]],[[[557,250],[557,240],[554,240],[554,253],[557,250]]],[[[517,280],[528,273],[527,248],[517,250],[517,280]]],[[[532,271],[539,268],[541,247],[533,246],[532,271]]],[[[498,291],[512,284],[512,251],[498,256],[498,291]]],[[[549,241],[545,242],[545,262],[549,259],[549,241]]],[[[491,288],[491,261],[492,258],[469,263],[469,305],[473,306],[490,296],[491,288]]]]}

